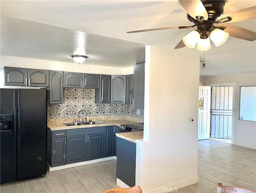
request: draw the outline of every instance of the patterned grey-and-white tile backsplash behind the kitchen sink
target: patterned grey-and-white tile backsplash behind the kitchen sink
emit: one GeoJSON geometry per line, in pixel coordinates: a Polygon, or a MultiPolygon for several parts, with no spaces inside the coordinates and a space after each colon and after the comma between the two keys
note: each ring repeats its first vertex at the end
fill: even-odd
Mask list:
{"type": "Polygon", "coordinates": [[[131,104],[96,104],[94,98],[94,89],[64,88],[63,103],[49,104],[48,118],[77,118],[78,112],[84,110],[87,117],[124,115],[144,119],[144,109],[138,115],[131,104]]]}

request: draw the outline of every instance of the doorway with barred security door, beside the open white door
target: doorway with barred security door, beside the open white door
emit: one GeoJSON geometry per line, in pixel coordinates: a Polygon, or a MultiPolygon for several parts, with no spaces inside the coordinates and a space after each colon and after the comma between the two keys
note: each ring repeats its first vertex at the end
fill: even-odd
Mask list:
{"type": "Polygon", "coordinates": [[[233,86],[212,86],[210,138],[232,139],[233,86]]]}

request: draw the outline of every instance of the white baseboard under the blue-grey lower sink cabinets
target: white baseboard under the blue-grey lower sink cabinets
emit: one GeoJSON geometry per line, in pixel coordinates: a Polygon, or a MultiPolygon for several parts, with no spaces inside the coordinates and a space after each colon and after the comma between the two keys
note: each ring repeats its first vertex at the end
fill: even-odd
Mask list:
{"type": "Polygon", "coordinates": [[[107,157],[107,158],[100,158],[100,159],[96,159],[96,160],[81,161],[81,162],[77,162],[77,163],[70,163],[70,164],[60,165],[60,166],[55,166],[55,167],[51,167],[47,163],[47,169],[48,169],[48,171],[57,171],[57,170],[60,170],[60,169],[67,169],[67,168],[70,168],[70,167],[88,165],[88,164],[91,164],[91,163],[98,163],[98,162],[101,162],[101,161],[108,161],[108,160],[116,160],[116,156],[111,156],[111,157],[107,157]]]}

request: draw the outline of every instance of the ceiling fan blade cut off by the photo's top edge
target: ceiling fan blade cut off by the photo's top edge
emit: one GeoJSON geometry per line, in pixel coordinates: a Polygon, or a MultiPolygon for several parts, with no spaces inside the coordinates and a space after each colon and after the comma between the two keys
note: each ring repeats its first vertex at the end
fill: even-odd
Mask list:
{"type": "Polygon", "coordinates": [[[200,0],[178,0],[186,12],[196,19],[196,16],[204,17],[208,20],[208,13],[200,0]]]}

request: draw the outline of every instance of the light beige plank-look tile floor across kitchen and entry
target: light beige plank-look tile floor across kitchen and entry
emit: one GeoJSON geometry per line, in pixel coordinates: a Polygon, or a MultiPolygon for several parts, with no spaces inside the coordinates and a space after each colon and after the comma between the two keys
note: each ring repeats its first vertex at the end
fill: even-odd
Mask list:
{"type": "MultiPolygon", "coordinates": [[[[116,160],[47,173],[46,177],[1,185],[1,193],[101,193],[116,187],[116,160]]],[[[178,193],[211,193],[223,185],[256,191],[256,150],[214,140],[198,141],[199,183],[178,193]]]]}

